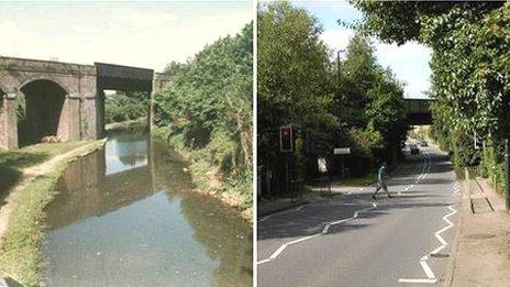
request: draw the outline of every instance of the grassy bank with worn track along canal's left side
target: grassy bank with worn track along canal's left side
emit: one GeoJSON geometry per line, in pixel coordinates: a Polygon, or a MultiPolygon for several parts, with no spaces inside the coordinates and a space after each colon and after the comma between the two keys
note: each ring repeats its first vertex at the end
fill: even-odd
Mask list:
{"type": "Polygon", "coordinates": [[[7,275],[29,286],[43,284],[38,252],[44,235],[43,209],[57,194],[55,186],[68,163],[101,148],[104,142],[41,144],[0,155],[11,166],[18,165],[23,175],[10,191],[12,200],[7,205],[11,205],[12,211],[0,239],[0,269],[7,275]],[[32,158],[33,155],[36,156],[32,158]]]}

